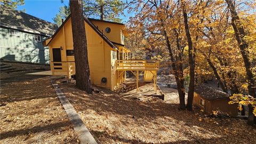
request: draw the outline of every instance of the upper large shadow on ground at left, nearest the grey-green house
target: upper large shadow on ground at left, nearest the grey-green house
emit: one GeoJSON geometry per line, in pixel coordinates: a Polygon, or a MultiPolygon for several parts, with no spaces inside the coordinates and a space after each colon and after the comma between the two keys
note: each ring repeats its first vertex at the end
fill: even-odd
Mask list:
{"type": "Polygon", "coordinates": [[[10,79],[3,85],[1,79],[1,103],[57,97],[49,76],[17,75],[10,79]]]}

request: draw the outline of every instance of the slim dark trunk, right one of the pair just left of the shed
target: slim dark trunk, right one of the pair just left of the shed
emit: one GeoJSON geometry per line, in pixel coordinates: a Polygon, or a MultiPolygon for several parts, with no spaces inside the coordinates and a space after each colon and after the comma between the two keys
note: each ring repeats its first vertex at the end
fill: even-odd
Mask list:
{"type": "Polygon", "coordinates": [[[186,36],[188,41],[188,62],[189,62],[189,88],[188,88],[188,102],[187,102],[187,109],[193,110],[193,98],[194,98],[194,90],[195,90],[195,59],[194,59],[194,51],[193,51],[193,45],[192,45],[192,39],[190,36],[190,31],[188,27],[188,15],[185,10],[185,5],[182,5],[183,10],[183,18],[184,18],[184,25],[186,30],[186,36]]]}

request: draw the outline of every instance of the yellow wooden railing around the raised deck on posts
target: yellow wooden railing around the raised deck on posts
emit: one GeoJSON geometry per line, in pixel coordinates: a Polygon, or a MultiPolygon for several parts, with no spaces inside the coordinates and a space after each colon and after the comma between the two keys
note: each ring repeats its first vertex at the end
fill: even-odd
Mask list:
{"type": "Polygon", "coordinates": [[[159,60],[116,60],[117,70],[158,70],[159,60]]]}

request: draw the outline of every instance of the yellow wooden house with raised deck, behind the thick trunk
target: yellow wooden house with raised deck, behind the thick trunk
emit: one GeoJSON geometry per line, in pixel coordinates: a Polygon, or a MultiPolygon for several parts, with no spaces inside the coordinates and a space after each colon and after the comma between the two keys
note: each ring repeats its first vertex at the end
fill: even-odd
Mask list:
{"type": "MultiPolygon", "coordinates": [[[[84,18],[91,82],[94,85],[115,90],[125,82],[126,71],[137,76],[145,73],[145,81],[154,79],[156,90],[157,60],[128,60],[130,52],[124,46],[123,23],[84,18]]],[[[52,75],[75,75],[75,58],[70,16],[55,34],[44,41],[49,46],[52,75]]]]}

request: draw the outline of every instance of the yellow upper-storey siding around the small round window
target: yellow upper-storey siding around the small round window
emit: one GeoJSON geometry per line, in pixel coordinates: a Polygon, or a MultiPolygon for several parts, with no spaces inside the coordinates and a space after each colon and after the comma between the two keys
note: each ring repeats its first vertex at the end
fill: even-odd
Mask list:
{"type": "Polygon", "coordinates": [[[108,23],[108,22],[103,22],[103,21],[93,21],[91,20],[91,22],[97,27],[98,29],[102,32],[103,30],[103,34],[106,35],[110,41],[112,42],[116,42],[116,43],[120,43],[121,42],[121,30],[122,30],[122,25],[116,25],[114,23],[108,23]],[[105,29],[109,27],[111,29],[110,33],[106,33],[105,29]]]}

